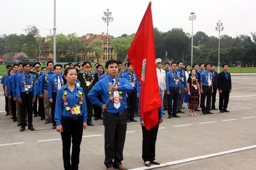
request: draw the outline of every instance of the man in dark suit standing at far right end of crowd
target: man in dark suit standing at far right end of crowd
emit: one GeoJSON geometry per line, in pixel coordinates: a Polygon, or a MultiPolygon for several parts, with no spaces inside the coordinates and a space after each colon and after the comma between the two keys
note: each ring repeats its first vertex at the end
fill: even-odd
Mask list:
{"type": "Polygon", "coordinates": [[[218,88],[219,88],[219,110],[221,113],[229,112],[227,110],[228,100],[229,100],[229,93],[231,92],[231,77],[230,73],[227,72],[228,65],[222,65],[223,71],[218,74],[218,88]]]}

